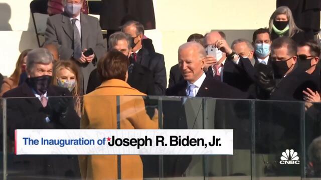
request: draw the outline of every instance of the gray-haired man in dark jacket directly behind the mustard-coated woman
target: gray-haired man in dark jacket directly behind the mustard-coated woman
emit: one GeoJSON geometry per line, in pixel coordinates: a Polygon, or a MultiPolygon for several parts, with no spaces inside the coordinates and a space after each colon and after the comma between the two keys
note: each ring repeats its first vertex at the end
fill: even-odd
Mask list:
{"type": "MultiPolygon", "coordinates": [[[[121,51],[123,54],[129,57],[130,64],[128,67],[128,79],[127,82],[130,86],[137,90],[147,94],[154,95],[154,82],[151,71],[130,57],[131,37],[124,32],[115,32],[109,36],[109,46],[113,49],[121,51]]],[[[101,84],[97,69],[94,69],[89,76],[87,93],[95,90],[101,84]]]]}

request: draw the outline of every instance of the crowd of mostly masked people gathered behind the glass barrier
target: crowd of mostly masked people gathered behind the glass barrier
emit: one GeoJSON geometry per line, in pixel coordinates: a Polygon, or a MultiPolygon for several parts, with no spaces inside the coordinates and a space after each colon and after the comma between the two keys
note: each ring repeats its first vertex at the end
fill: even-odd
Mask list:
{"type": "MultiPolygon", "coordinates": [[[[287,6],[278,7],[268,28],[255,30],[251,41],[239,38],[229,45],[223,31],[190,35],[177,49],[178,63],[170,69],[167,88],[164,55],[155,52],[141,22],[123,22],[120,31],[108,37],[107,48],[98,19],[82,13],[83,0],[63,0],[62,4],[64,11],[48,18],[44,47],[21,52],[13,74],[2,84],[2,97],[20,97],[7,102],[11,140],[15,129],[158,128],[157,108],[148,113],[139,96],[120,99],[124,113],[117,127],[115,95],[306,101],[307,111],[315,108],[311,102],[321,101],[320,47],[297,27],[287,6]]],[[[164,119],[164,127],[187,127],[178,122],[181,118],[164,119]]],[[[182,176],[191,161],[180,156],[167,160],[181,164],[168,166],[168,176],[182,176]]],[[[30,173],[81,173],[86,179],[139,179],[147,173],[143,168],[153,162],[124,155],[123,170],[117,174],[116,155],[79,156],[78,170],[71,169],[78,164],[74,157],[57,162],[50,157],[23,156],[19,161],[29,161],[19,168],[30,173]],[[53,166],[58,170],[48,170],[53,166]]]]}

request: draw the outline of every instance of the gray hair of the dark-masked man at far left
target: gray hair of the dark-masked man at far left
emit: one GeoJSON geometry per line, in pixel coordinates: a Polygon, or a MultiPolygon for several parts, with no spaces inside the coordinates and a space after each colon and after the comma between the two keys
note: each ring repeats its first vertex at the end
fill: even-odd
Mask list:
{"type": "Polygon", "coordinates": [[[35,48],[27,54],[27,71],[31,72],[37,63],[50,64],[54,62],[54,57],[46,48],[35,48]]]}

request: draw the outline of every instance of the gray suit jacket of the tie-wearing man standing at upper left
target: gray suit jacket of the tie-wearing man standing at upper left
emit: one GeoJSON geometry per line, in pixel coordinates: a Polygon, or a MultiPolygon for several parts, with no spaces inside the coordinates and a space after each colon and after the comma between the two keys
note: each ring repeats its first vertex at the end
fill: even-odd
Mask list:
{"type": "MultiPolygon", "coordinates": [[[[96,60],[87,63],[76,63],[80,66],[83,77],[84,92],[87,89],[90,72],[95,68],[96,61],[106,52],[101,33],[99,21],[96,17],[80,13],[81,23],[81,47],[82,49],[92,48],[95,52],[96,60]]],[[[70,18],[65,13],[50,16],[47,20],[45,32],[45,44],[56,44],[60,54],[60,59],[67,60],[73,57],[73,27],[70,18]]]]}

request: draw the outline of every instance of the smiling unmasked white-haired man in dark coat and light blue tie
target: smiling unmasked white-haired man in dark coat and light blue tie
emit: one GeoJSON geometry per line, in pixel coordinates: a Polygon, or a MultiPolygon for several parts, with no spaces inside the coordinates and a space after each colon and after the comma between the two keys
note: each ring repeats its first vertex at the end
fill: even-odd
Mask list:
{"type": "MultiPolygon", "coordinates": [[[[226,48],[223,41],[217,41],[219,48],[226,48]]],[[[231,51],[228,52],[230,55],[231,51]]],[[[248,94],[207,76],[203,71],[206,52],[197,42],[187,42],[179,48],[179,68],[184,81],[166,90],[166,95],[199,96],[214,98],[248,98],[248,94]],[[199,53],[198,53],[199,52],[199,53]],[[190,62],[191,61],[191,62],[190,62]],[[188,63],[189,62],[189,63],[188,63]]]]}

